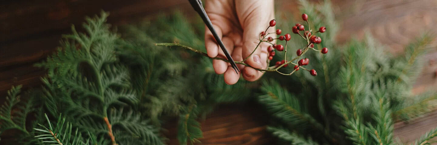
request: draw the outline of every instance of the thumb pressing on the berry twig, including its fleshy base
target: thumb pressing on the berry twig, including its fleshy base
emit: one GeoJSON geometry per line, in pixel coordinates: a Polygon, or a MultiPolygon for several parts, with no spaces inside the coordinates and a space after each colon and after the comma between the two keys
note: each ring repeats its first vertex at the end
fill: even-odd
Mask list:
{"type": "MultiPolygon", "coordinates": [[[[247,58],[245,63],[251,67],[262,68],[263,64],[264,66],[266,65],[267,57],[265,56],[267,56],[267,47],[270,44],[263,42],[258,47],[257,45],[259,43],[260,33],[264,32],[269,26],[270,20],[273,20],[274,1],[237,0],[236,12],[243,28],[243,59],[247,58]],[[255,48],[257,48],[256,51],[254,51],[255,48]]],[[[274,31],[275,27],[269,27],[267,33],[274,31]]],[[[273,34],[271,35],[273,37],[273,34]]]]}

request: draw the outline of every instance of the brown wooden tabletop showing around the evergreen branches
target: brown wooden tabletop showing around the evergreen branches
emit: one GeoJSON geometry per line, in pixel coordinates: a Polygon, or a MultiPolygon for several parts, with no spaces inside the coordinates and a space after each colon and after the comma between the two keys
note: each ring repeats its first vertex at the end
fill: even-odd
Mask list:
{"type": "MultiPolygon", "coordinates": [[[[352,37],[361,38],[370,30],[385,44],[386,50],[398,54],[402,47],[423,32],[436,32],[437,1],[435,0],[332,0],[336,18],[342,22],[337,40],[340,44],[352,37]]],[[[290,0],[277,9],[297,12],[290,0]]],[[[108,22],[128,24],[153,17],[156,13],[174,9],[192,15],[186,0],[9,0],[0,2],[0,95],[11,85],[38,87],[44,71],[32,67],[51,54],[58,46],[61,34],[70,33],[71,24],[80,25],[85,16],[101,9],[110,11],[108,22]]],[[[296,13],[296,17],[299,14],[296,13]]],[[[437,87],[437,47],[427,54],[429,61],[418,78],[413,93],[437,87]]],[[[3,98],[0,98],[0,101],[3,98]]],[[[265,132],[262,115],[251,111],[257,106],[225,106],[202,122],[205,145],[271,145],[265,132]]],[[[437,115],[431,114],[409,125],[398,123],[395,135],[411,141],[437,126],[437,115]]],[[[174,126],[169,126],[170,145],[177,144],[174,126]],[[173,136],[172,136],[173,135],[173,136]]]]}

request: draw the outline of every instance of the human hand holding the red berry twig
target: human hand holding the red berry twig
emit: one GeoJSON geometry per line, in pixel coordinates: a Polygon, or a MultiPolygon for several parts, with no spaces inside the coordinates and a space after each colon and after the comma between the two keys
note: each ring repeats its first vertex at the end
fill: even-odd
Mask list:
{"type": "MultiPolygon", "coordinates": [[[[257,47],[260,32],[265,31],[269,21],[274,19],[274,0],[207,0],[205,11],[233,60],[243,61],[257,47]]],[[[205,29],[208,56],[226,58],[211,31],[208,27],[205,29]]],[[[274,33],[275,30],[271,27],[267,33],[274,33]]],[[[268,46],[268,43],[261,43],[245,63],[265,69],[268,46]]],[[[215,59],[212,64],[216,74],[224,74],[226,84],[235,84],[239,80],[240,73],[236,74],[229,63],[215,59]]],[[[242,64],[237,66],[247,81],[256,81],[264,74],[242,64]]]]}

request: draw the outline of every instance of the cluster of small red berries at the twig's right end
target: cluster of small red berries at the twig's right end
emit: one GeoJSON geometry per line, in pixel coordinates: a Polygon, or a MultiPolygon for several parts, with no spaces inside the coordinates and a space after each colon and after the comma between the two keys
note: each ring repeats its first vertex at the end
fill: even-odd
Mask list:
{"type": "MultiPolygon", "coordinates": [[[[308,15],[307,14],[302,14],[302,20],[304,20],[304,21],[306,21],[307,22],[307,24],[308,24],[308,15]]],[[[270,21],[270,23],[269,23],[269,27],[274,27],[276,25],[276,20],[271,20],[270,21]]],[[[268,28],[267,28],[268,29],[268,28]]],[[[313,50],[315,50],[315,51],[319,51],[319,50],[316,50],[316,49],[314,49],[314,44],[320,44],[321,42],[322,42],[322,39],[320,38],[320,37],[318,37],[318,36],[316,36],[316,35],[314,35],[314,34],[312,34],[311,32],[311,30],[309,29],[309,30],[305,30],[305,26],[303,25],[303,24],[295,24],[295,26],[293,26],[292,28],[291,28],[291,30],[292,30],[292,32],[294,33],[294,34],[299,34],[303,39],[305,39],[305,40],[307,40],[308,41],[308,45],[307,45],[307,47],[305,47],[303,50],[302,49],[298,49],[297,51],[296,51],[296,54],[297,54],[297,56],[298,57],[300,57],[303,53],[305,53],[305,51],[307,51],[307,49],[313,49],[313,50]],[[300,31],[303,31],[303,33],[304,33],[304,36],[302,36],[302,34],[300,34],[300,31]]],[[[317,31],[317,32],[320,32],[320,33],[324,33],[326,31],[326,27],[320,27],[319,28],[319,30],[317,31]]],[[[263,39],[266,37],[266,35],[268,35],[268,34],[266,34],[266,32],[267,32],[267,30],[266,31],[264,31],[264,32],[261,32],[261,34],[260,34],[260,36],[261,37],[263,37],[263,39]]],[[[316,32],[316,33],[317,33],[316,32]]],[[[270,34],[270,33],[269,33],[270,34]]],[[[272,33],[273,34],[273,33],[272,33]]],[[[282,30],[281,29],[277,29],[276,30],[276,34],[277,35],[281,35],[282,34],[282,30]]],[[[290,34],[284,34],[284,35],[281,35],[281,36],[279,36],[279,37],[277,37],[277,38],[273,38],[273,37],[267,37],[267,42],[271,42],[271,41],[273,41],[274,39],[279,39],[279,40],[285,40],[286,41],[286,44],[287,44],[287,42],[289,41],[289,40],[291,40],[291,35],[290,34]]],[[[266,42],[266,41],[264,41],[264,42],[266,42]]],[[[287,45],[285,45],[285,47],[286,47],[287,45]]],[[[274,55],[276,54],[276,51],[275,51],[275,49],[277,50],[277,51],[284,51],[284,49],[285,49],[285,53],[287,53],[287,50],[286,50],[286,48],[284,48],[284,46],[283,45],[281,45],[281,44],[272,44],[271,46],[269,46],[268,48],[267,48],[267,51],[269,52],[269,55],[268,55],[268,59],[269,60],[272,60],[273,59],[273,57],[274,57],[274,55]]],[[[328,48],[326,48],[326,47],[324,47],[322,50],[320,50],[319,52],[321,52],[322,54],[326,54],[326,53],[328,53],[328,48]]],[[[297,58],[295,58],[295,59],[297,59],[297,58]]],[[[287,63],[287,61],[286,60],[282,60],[282,61],[277,61],[276,62],[276,67],[279,67],[279,66],[281,66],[281,65],[283,65],[283,64],[285,64],[285,65],[283,65],[282,67],[287,67],[288,66],[288,63],[287,63]]],[[[289,63],[292,63],[292,62],[289,62],[289,63]]],[[[294,63],[293,63],[294,64],[294,63]]],[[[294,69],[295,69],[295,71],[298,71],[299,70],[299,67],[301,67],[301,66],[305,66],[305,65],[308,65],[309,64],[309,59],[308,58],[303,58],[303,59],[301,59],[301,60],[299,60],[298,61],[298,65],[295,65],[294,66],[294,69]]],[[[303,68],[303,67],[302,67],[303,68]]],[[[303,69],[305,69],[305,68],[303,68],[303,69]]],[[[307,70],[307,69],[305,69],[305,70],[307,70]]],[[[313,75],[313,76],[316,76],[317,75],[317,72],[314,70],[314,69],[312,69],[312,70],[307,70],[307,71],[309,71],[310,72],[310,74],[311,75],[313,75]]]]}

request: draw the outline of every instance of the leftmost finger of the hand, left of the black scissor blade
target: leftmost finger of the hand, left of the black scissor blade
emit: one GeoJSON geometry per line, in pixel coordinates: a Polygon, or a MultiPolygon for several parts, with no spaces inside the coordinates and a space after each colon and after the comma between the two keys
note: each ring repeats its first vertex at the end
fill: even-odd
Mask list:
{"type": "MultiPolygon", "coordinates": [[[[217,32],[218,37],[222,39],[223,36],[222,29],[215,24],[213,24],[212,26],[217,32]]],[[[208,54],[209,57],[216,57],[218,55],[219,46],[214,36],[212,35],[212,32],[208,29],[208,27],[205,27],[205,48],[206,48],[206,53],[208,54]]]]}

